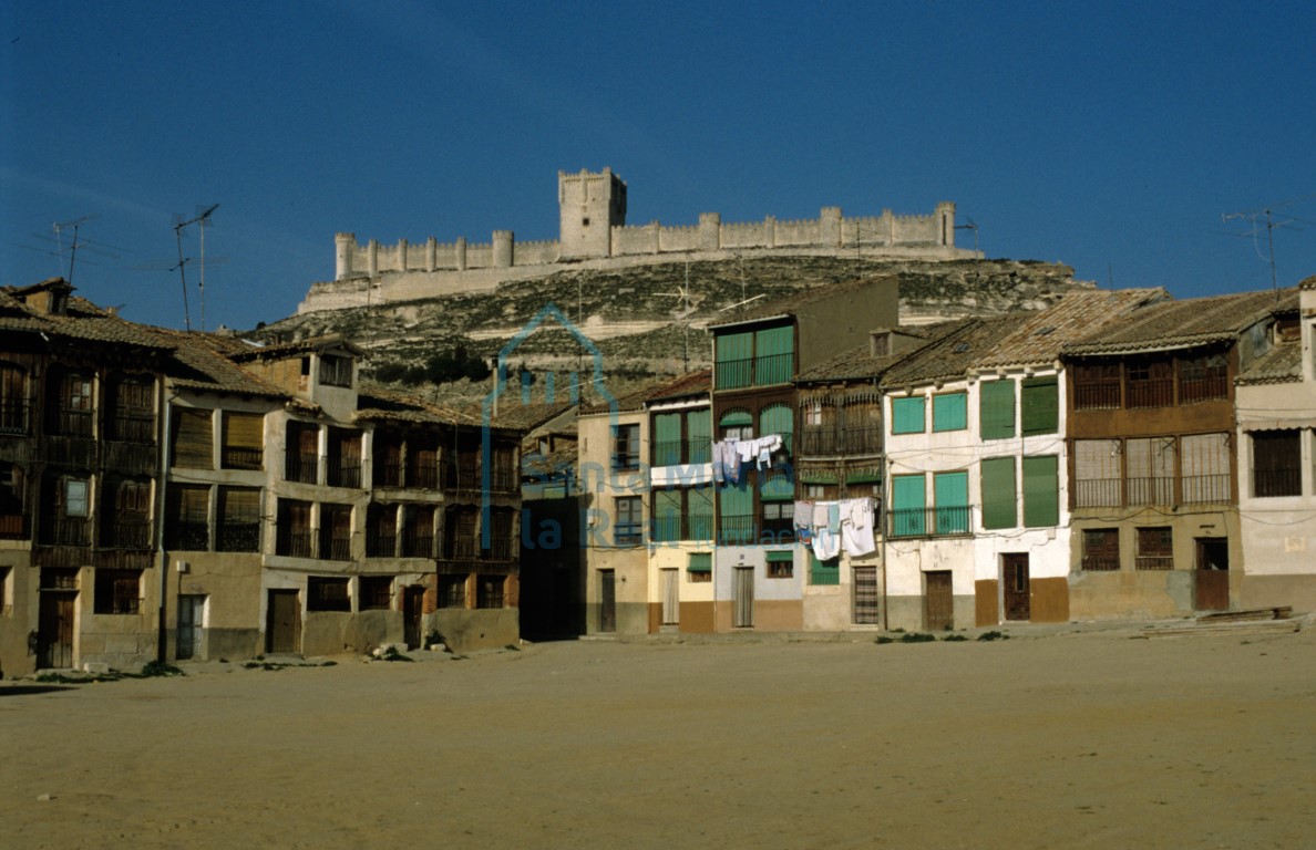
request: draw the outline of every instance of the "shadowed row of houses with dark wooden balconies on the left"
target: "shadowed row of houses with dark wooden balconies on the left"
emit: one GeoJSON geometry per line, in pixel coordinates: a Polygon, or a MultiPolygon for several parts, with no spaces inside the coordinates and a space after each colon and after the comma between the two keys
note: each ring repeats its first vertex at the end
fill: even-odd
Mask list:
{"type": "Polygon", "coordinates": [[[336,337],[0,291],[0,672],[519,636],[519,432],[336,337]]]}

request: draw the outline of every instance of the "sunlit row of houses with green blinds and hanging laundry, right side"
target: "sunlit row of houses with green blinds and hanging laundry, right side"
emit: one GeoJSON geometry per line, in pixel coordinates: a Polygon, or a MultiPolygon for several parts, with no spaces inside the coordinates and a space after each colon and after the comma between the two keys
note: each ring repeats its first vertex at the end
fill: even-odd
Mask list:
{"type": "Polygon", "coordinates": [[[588,632],[1316,609],[1316,278],[915,328],[879,279],[711,333],[582,411],[588,632]]]}

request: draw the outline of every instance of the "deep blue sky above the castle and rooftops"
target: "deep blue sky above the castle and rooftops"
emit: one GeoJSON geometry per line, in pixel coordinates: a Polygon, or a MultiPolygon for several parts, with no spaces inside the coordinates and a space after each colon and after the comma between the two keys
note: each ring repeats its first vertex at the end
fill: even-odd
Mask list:
{"type": "Polygon", "coordinates": [[[205,324],[246,329],[337,232],[555,238],[558,170],[604,166],[629,224],[953,200],[988,257],[1178,297],[1269,288],[1265,218],[1223,221],[1269,208],[1316,275],[1316,7],[994,5],[4,0],[0,283],[87,217],[79,293],[180,328],[175,216],[220,204],[205,324]]]}

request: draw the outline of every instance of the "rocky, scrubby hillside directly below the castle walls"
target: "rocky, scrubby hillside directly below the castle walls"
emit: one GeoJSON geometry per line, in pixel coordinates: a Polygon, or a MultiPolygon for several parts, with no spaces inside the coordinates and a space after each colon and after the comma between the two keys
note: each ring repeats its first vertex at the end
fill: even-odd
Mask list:
{"type": "MultiPolygon", "coordinates": [[[[551,301],[597,343],[609,380],[624,383],[707,366],[707,326],[734,317],[737,305],[746,300],[758,305],[805,288],[878,276],[899,280],[901,324],[1040,309],[1070,289],[1092,287],[1075,282],[1069,266],[1036,261],[753,257],[565,270],[508,282],[488,292],[297,314],[253,336],[291,341],[342,333],[366,349],[367,370],[374,372],[421,366],[458,345],[472,357],[491,361],[551,301]],[[688,293],[688,311],[678,295],[680,288],[688,293]]],[[[575,347],[566,347],[565,332],[541,332],[517,349],[513,367],[553,368],[565,353],[575,357],[575,347]]],[[[463,380],[434,392],[478,396],[483,391],[463,380]]]]}

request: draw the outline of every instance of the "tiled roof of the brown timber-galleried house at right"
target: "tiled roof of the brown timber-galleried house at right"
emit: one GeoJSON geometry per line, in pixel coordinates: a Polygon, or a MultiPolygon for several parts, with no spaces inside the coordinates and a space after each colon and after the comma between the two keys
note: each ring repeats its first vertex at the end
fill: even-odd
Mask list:
{"type": "Polygon", "coordinates": [[[1298,292],[1240,292],[1161,301],[1138,308],[1080,342],[1062,346],[1070,355],[1169,351],[1237,339],[1267,313],[1298,308],[1298,292]]]}

